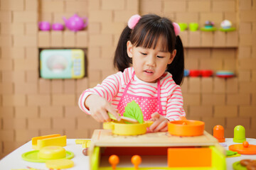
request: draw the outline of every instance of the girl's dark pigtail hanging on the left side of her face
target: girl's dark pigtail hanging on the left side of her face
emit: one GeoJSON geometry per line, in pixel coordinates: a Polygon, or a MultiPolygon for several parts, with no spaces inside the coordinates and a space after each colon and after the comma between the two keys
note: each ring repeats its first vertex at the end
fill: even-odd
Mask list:
{"type": "Polygon", "coordinates": [[[130,64],[132,64],[132,58],[127,55],[127,41],[129,40],[131,31],[128,26],[124,28],[117,43],[117,49],[114,52],[114,68],[117,68],[121,72],[124,72],[124,69],[130,67],[130,64]]]}

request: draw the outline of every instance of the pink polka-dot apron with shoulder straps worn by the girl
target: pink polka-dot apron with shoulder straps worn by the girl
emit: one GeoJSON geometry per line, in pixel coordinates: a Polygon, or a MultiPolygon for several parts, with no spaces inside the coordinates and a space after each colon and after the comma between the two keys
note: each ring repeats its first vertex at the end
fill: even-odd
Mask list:
{"type": "MultiPolygon", "coordinates": [[[[132,74],[132,79],[134,79],[135,72],[132,74]]],[[[163,115],[163,109],[160,101],[160,81],[157,81],[157,97],[145,97],[145,96],[136,96],[132,94],[127,94],[129,85],[131,84],[132,79],[129,81],[127,86],[124,89],[124,94],[122,95],[119,104],[117,106],[118,112],[123,115],[124,108],[127,106],[127,103],[135,101],[139,104],[139,107],[142,109],[144,120],[151,119],[151,114],[158,112],[160,115],[163,115]]]]}

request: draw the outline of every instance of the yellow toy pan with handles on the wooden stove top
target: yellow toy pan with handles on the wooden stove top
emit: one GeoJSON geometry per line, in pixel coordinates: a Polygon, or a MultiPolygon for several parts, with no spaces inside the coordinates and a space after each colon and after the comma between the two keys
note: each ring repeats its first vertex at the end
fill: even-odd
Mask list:
{"type": "Polygon", "coordinates": [[[153,121],[134,124],[107,122],[103,123],[103,128],[112,130],[112,133],[116,135],[142,135],[146,133],[146,128],[149,128],[153,123],[153,121]]]}

